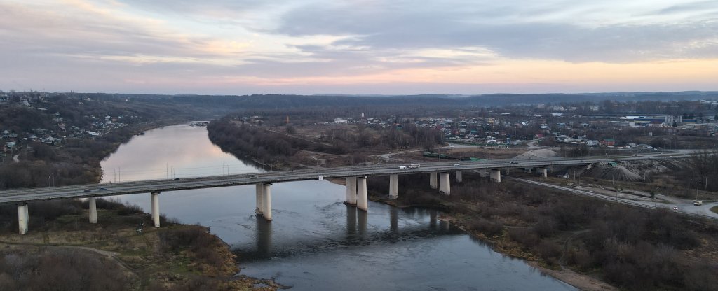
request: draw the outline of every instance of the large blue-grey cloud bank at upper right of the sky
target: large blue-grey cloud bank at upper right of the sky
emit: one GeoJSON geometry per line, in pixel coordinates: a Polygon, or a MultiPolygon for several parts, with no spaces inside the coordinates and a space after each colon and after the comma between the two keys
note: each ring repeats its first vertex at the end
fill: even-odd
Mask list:
{"type": "MultiPolygon", "coordinates": [[[[602,16],[591,6],[569,5],[563,11],[547,11],[554,6],[517,9],[506,13],[501,5],[443,10],[390,6],[368,7],[314,4],[287,12],[274,31],[277,34],[358,35],[337,44],[383,49],[450,49],[483,47],[500,57],[559,59],[570,62],[638,62],[671,58],[711,58],[718,56],[718,21],[681,19],[656,22],[655,19],[621,19],[601,22],[602,16]],[[554,16],[546,16],[553,14],[554,16]],[[585,16],[583,14],[586,14],[585,16]],[[521,15],[526,15],[521,19],[521,15]],[[587,18],[584,18],[587,17],[587,18]],[[513,19],[513,21],[511,21],[513,19]]],[[[517,5],[521,6],[521,4],[517,5]]],[[[706,4],[671,6],[664,14],[701,10],[706,4]]],[[[690,14],[693,15],[693,14],[690,14]]]]}

